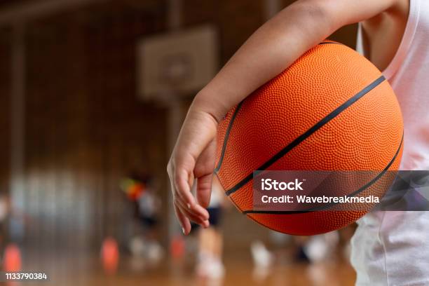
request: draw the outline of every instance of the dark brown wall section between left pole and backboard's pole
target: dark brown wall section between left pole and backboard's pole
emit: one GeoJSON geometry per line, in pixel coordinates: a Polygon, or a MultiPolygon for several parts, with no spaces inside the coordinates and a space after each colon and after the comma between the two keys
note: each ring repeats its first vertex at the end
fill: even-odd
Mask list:
{"type": "Polygon", "coordinates": [[[125,240],[118,185],[132,170],[153,174],[165,197],[165,109],[135,90],[135,43],[163,29],[163,8],[150,8],[112,2],[27,26],[27,243],[125,240]]]}

